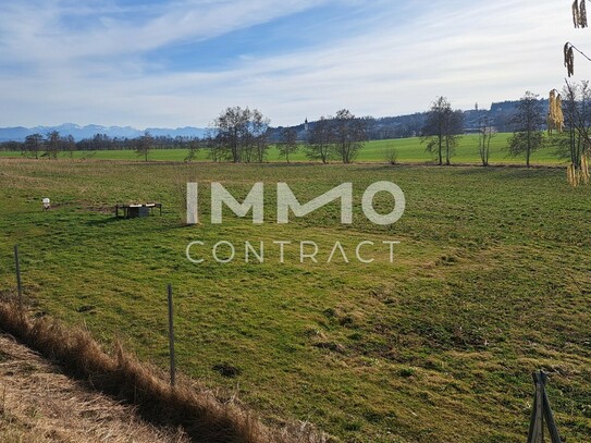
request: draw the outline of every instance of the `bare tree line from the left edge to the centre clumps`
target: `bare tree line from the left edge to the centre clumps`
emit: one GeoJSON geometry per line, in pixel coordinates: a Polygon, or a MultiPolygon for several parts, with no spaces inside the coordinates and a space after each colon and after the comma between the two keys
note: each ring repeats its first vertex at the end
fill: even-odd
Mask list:
{"type": "Polygon", "coordinates": [[[75,141],[69,136],[61,136],[58,131],[46,135],[32,134],[24,141],[4,141],[2,150],[21,151],[24,157],[51,159],[60,152],[73,156],[78,151],[133,149],[146,161],[152,149],[186,149],[186,161],[196,158],[202,150],[212,161],[264,162],[271,144],[278,147],[280,156],[287,162],[290,156],[303,149],[306,157],[327,163],[338,159],[350,163],[368,138],[367,119],[355,116],[349,110],[342,109],[334,116],[322,116],[305,131],[305,139],[293,128],[281,128],[279,134],[270,126],[270,120],[258,109],[227,108],[210,125],[205,137],[152,136],[149,132],[135,138],[109,137],[96,134],[91,138],[75,141]]]}

